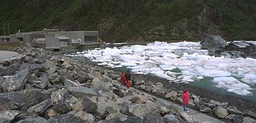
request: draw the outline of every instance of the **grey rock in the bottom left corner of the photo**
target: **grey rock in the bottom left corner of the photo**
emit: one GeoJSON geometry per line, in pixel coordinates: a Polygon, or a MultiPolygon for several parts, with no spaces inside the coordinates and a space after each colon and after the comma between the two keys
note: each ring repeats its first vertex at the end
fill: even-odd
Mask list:
{"type": "Polygon", "coordinates": [[[8,123],[14,119],[20,111],[11,110],[11,111],[0,111],[0,123],[8,123]]]}

